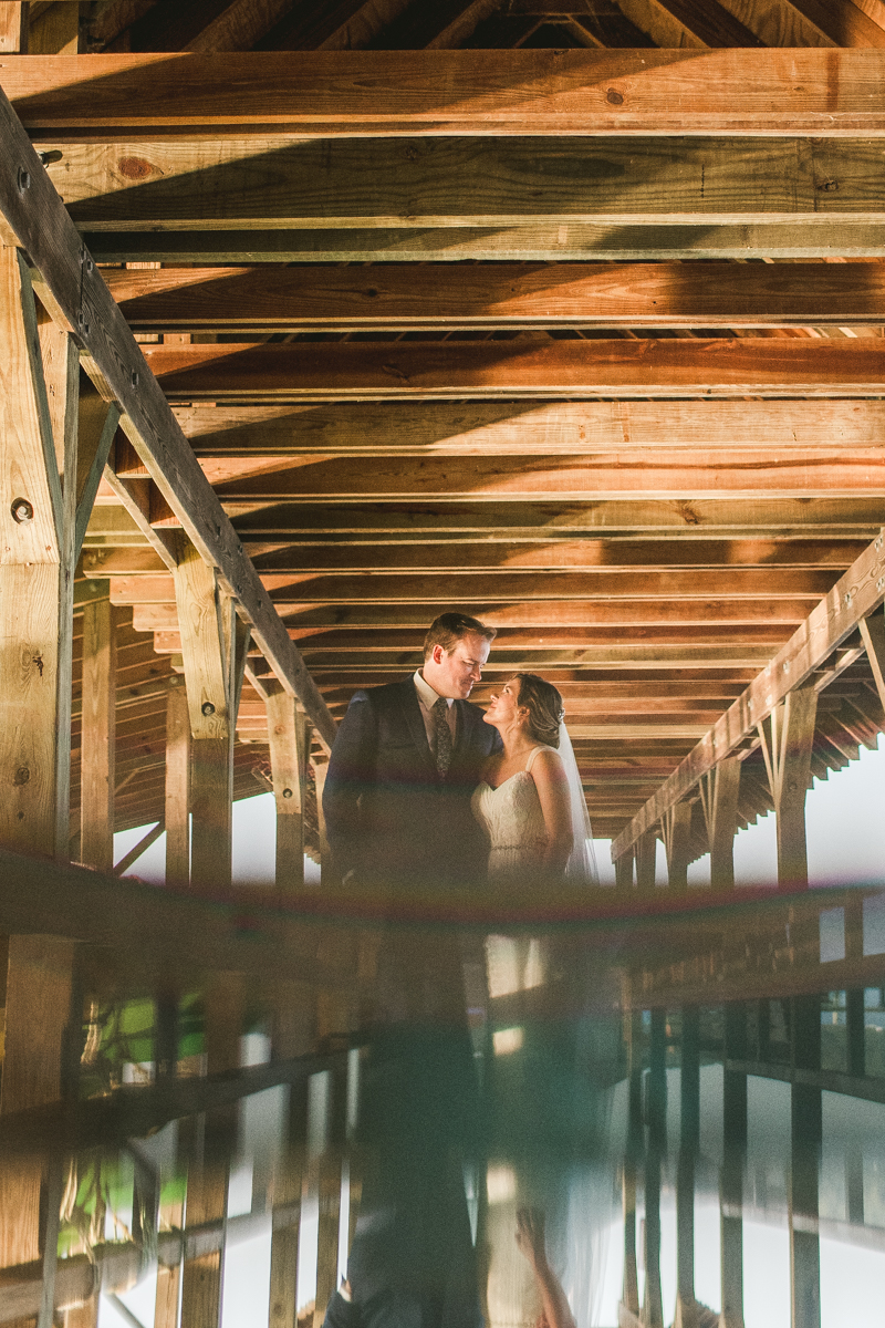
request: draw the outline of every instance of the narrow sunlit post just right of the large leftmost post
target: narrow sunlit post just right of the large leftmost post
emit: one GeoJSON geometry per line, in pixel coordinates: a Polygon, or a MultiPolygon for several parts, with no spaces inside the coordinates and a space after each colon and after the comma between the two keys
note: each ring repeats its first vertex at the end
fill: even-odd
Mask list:
{"type": "Polygon", "coordinates": [[[114,866],[117,639],[109,600],[84,606],[80,861],[114,866]]]}

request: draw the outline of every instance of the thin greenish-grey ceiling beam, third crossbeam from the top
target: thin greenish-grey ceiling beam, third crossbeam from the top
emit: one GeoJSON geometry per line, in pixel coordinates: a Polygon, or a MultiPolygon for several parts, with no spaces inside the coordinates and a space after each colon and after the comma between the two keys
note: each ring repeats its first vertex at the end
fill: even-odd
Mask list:
{"type": "Polygon", "coordinates": [[[458,263],[521,260],[636,262],[675,259],[882,258],[885,226],[833,222],[746,224],[667,223],[606,226],[427,227],[309,231],[89,231],[84,239],[98,263],[458,263]]]}

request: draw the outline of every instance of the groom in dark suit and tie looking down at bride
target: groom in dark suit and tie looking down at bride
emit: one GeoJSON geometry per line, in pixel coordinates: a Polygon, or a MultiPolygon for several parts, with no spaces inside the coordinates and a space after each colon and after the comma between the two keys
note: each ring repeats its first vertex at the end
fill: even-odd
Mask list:
{"type": "Polygon", "coordinates": [[[495,628],[442,614],[411,677],[356,692],[329,760],[326,834],[345,883],[470,884],[484,846],[470,810],[498,732],[467,697],[495,628]]]}

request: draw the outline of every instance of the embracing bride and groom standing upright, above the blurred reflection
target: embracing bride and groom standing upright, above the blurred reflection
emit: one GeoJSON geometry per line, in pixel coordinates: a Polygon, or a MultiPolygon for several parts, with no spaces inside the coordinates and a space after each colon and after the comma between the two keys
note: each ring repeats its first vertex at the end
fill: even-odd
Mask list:
{"type": "Polygon", "coordinates": [[[322,799],[345,882],[593,880],[560,693],[517,673],[486,714],[467,701],[494,637],[443,614],[418,672],[353,696],[322,799]]]}

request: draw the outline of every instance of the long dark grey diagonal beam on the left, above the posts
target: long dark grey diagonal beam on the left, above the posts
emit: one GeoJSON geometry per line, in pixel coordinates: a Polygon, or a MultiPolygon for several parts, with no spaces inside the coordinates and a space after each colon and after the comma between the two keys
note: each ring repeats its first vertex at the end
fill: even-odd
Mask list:
{"type": "Polygon", "coordinates": [[[27,133],[0,93],[0,214],[41,272],[54,312],[88,352],[86,364],[184,530],[210,566],[220,570],[265,657],[287,691],[300,697],[322,741],[334,724],[308,671],[243,552],[211,487],[175,425],[76,227],[66,216],[27,133]]]}

